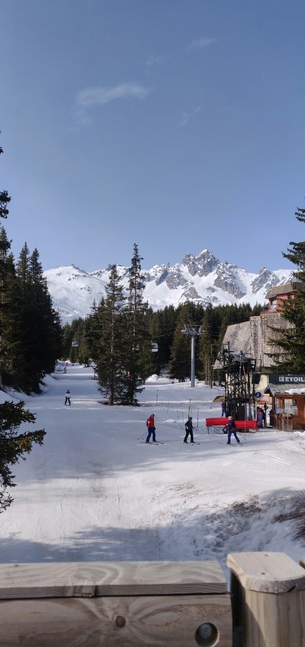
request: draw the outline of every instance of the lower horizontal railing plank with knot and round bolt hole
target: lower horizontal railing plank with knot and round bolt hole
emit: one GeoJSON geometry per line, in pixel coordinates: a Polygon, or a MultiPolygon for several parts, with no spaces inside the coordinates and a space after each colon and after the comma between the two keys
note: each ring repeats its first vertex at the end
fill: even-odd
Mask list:
{"type": "Polygon", "coordinates": [[[232,647],[229,595],[3,600],[0,645],[198,647],[204,622],[215,627],[211,644],[232,647]]]}

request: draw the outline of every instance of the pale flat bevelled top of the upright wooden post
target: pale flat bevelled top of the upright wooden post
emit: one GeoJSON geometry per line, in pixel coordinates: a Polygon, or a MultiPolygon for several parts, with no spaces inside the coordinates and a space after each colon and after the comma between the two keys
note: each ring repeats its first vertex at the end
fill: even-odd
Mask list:
{"type": "Polygon", "coordinates": [[[286,593],[305,589],[304,569],[285,553],[231,553],[227,566],[246,590],[286,593]]]}

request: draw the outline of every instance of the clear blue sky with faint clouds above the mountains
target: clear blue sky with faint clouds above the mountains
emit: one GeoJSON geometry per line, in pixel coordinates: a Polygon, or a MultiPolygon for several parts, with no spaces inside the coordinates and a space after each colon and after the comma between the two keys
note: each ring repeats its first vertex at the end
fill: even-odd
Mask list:
{"type": "MultiPolygon", "coordinates": [[[[304,239],[304,0],[2,0],[0,188],[44,269],[304,239]]],[[[291,266],[292,268],[292,266],[291,266]]]]}

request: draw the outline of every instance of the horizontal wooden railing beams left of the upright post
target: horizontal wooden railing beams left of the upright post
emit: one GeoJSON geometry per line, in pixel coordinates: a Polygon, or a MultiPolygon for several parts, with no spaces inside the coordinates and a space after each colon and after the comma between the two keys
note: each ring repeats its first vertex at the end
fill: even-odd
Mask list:
{"type": "Polygon", "coordinates": [[[1,647],[232,647],[217,562],[1,564],[0,628],[1,647]]]}

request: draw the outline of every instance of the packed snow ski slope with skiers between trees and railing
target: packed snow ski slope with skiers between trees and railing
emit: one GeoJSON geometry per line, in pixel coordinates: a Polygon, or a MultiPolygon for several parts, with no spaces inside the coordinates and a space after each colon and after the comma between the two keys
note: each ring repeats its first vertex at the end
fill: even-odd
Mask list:
{"type": "Polygon", "coordinates": [[[304,556],[289,523],[274,521],[305,486],[304,433],[247,433],[227,446],[221,428],[205,426],[220,415],[222,391],[202,382],[154,375],[139,407],[105,406],[91,368],[69,364],[46,384],[23,397],[47,435],[14,466],[1,562],[216,559],[226,570],[230,552],[304,556]],[[200,444],[182,442],[189,406],[200,444]],[[163,444],[143,442],[151,413],[163,444]]]}

